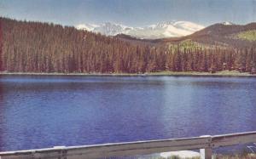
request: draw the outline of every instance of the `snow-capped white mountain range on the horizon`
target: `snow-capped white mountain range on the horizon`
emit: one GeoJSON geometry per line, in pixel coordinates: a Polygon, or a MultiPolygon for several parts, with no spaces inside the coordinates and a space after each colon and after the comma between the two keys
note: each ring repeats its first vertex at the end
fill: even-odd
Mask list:
{"type": "Polygon", "coordinates": [[[125,34],[131,37],[157,39],[165,37],[182,37],[199,31],[204,26],[189,22],[161,22],[151,26],[131,27],[110,22],[101,25],[81,24],[76,26],[77,29],[84,29],[87,31],[100,32],[107,36],[115,36],[117,34],[125,34]]]}

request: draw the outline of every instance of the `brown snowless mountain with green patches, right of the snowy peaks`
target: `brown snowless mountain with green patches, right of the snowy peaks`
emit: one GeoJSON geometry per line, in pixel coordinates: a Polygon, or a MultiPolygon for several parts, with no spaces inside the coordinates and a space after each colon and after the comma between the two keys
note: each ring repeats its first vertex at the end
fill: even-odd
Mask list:
{"type": "Polygon", "coordinates": [[[158,40],[161,43],[182,43],[191,41],[200,45],[222,47],[251,47],[256,44],[256,23],[235,25],[232,23],[218,23],[200,31],[184,36],[158,40]]]}

